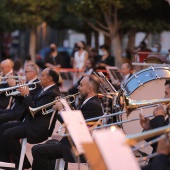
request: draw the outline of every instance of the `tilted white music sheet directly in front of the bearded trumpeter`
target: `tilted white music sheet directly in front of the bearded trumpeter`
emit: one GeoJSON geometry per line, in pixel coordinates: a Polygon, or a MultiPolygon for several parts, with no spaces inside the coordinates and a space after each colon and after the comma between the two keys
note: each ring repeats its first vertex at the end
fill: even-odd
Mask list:
{"type": "Polygon", "coordinates": [[[93,142],[93,139],[81,111],[63,111],[61,116],[79,154],[84,153],[81,143],[93,142]]]}

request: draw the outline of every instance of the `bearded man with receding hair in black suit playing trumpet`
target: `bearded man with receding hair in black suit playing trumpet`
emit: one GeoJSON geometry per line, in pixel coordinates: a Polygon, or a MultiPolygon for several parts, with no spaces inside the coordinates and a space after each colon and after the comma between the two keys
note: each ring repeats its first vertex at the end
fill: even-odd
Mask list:
{"type": "MultiPolygon", "coordinates": [[[[103,109],[97,96],[99,86],[100,80],[95,75],[85,76],[80,81],[78,90],[80,95],[84,98],[80,110],[85,119],[103,115],[103,109]]],[[[57,102],[53,107],[58,111],[63,109],[60,102],[57,102]]],[[[50,160],[59,158],[63,158],[65,162],[75,162],[71,153],[71,145],[67,137],[64,137],[58,144],[36,145],[32,148],[32,154],[32,170],[52,170],[53,168],[50,164],[50,160]]],[[[81,162],[86,162],[86,160],[83,160],[83,156],[80,156],[80,158],[82,158],[81,162]]]]}

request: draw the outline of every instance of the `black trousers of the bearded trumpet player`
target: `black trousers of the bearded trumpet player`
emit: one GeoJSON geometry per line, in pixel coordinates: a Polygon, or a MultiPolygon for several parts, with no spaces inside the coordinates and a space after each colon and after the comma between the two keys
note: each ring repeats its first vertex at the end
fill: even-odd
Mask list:
{"type": "Polygon", "coordinates": [[[32,170],[54,170],[51,161],[64,157],[63,144],[40,144],[32,148],[32,170]]]}

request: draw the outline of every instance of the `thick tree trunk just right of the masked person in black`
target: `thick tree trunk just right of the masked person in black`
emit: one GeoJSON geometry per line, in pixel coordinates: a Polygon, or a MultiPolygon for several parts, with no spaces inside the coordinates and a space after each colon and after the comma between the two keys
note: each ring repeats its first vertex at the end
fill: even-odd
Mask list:
{"type": "Polygon", "coordinates": [[[120,37],[118,34],[111,37],[111,54],[115,57],[115,65],[120,67],[122,64],[122,48],[120,43],[120,37]]]}

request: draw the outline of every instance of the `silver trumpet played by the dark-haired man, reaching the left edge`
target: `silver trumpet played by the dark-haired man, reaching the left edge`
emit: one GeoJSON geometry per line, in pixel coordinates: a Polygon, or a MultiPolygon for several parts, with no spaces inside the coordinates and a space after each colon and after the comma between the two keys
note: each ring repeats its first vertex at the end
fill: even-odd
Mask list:
{"type": "Polygon", "coordinates": [[[16,96],[16,95],[20,94],[20,92],[16,90],[17,88],[34,85],[34,87],[29,87],[29,90],[34,90],[36,88],[36,84],[40,83],[40,82],[41,81],[37,81],[37,82],[32,82],[32,83],[27,83],[27,84],[16,85],[13,87],[3,88],[3,89],[0,89],[0,93],[6,92],[6,96],[16,96]],[[11,90],[12,90],[12,92],[10,92],[11,90]],[[16,90],[16,91],[13,91],[13,90],[16,90]]]}

